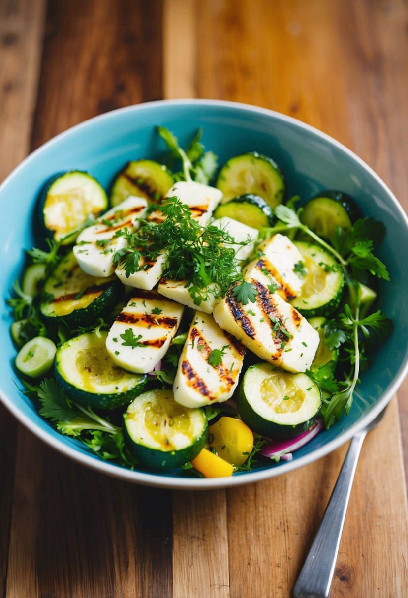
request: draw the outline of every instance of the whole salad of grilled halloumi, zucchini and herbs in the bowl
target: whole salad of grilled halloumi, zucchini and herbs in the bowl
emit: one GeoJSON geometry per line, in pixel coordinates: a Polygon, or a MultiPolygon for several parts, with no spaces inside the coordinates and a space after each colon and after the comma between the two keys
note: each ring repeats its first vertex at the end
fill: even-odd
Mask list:
{"type": "Polygon", "coordinates": [[[221,168],[199,131],[165,164],[130,161],[109,197],[59,173],[45,245],[8,300],[23,392],[102,459],[233,475],[347,416],[391,329],[373,309],[385,235],[341,191],[299,207],[257,152],[221,168]]]}

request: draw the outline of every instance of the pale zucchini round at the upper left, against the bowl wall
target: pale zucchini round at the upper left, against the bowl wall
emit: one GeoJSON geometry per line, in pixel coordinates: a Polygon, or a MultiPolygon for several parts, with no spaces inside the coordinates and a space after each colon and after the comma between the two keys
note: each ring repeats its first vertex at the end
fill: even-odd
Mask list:
{"type": "Polygon", "coordinates": [[[70,170],[47,182],[38,206],[45,233],[63,245],[69,245],[74,243],[89,215],[96,217],[108,208],[108,196],[89,173],[70,170]]]}

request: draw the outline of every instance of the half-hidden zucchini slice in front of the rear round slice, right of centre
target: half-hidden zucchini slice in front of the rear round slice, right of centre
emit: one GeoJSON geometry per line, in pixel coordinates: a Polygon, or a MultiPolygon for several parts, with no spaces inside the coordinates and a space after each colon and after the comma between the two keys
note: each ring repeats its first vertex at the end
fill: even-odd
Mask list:
{"type": "Polygon", "coordinates": [[[272,208],[262,197],[251,193],[218,205],[214,212],[214,218],[223,218],[223,216],[228,216],[258,230],[271,226],[273,221],[272,208]]]}

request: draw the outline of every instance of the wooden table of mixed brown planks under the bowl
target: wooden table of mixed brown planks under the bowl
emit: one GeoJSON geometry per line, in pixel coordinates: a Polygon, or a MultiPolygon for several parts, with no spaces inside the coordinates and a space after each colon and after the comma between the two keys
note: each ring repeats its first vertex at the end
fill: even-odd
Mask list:
{"type": "MultiPolygon", "coordinates": [[[[408,208],[404,0],[0,0],[0,178],[113,108],[208,97],[272,108],[357,152],[408,208]]],[[[367,437],[331,597],[407,595],[408,386],[367,437]]],[[[0,593],[286,597],[346,446],[238,489],[122,483],[0,408],[0,593]]]]}

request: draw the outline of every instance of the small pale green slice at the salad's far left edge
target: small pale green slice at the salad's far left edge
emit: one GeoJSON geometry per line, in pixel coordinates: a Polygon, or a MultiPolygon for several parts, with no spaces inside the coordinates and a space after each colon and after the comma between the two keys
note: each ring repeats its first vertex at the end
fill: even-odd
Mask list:
{"type": "Polygon", "coordinates": [[[38,378],[53,365],[56,350],[50,338],[32,338],[17,353],[16,367],[26,376],[38,378]]]}

